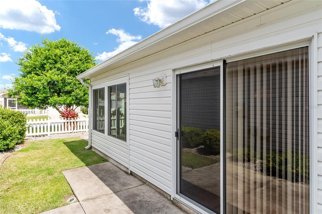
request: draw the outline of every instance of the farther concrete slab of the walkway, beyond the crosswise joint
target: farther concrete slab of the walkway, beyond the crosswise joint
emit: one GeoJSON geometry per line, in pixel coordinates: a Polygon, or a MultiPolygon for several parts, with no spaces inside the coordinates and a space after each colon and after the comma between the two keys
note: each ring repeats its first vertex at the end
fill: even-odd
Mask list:
{"type": "Polygon", "coordinates": [[[110,162],[66,170],[62,173],[79,201],[143,184],[110,162]]]}

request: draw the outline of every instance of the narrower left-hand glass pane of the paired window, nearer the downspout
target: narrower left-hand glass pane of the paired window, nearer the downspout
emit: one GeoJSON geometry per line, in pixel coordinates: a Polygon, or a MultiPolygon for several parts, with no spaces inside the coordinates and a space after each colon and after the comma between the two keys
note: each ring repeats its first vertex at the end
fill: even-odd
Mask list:
{"type": "Polygon", "coordinates": [[[105,89],[93,90],[93,129],[104,133],[105,129],[105,89]]]}

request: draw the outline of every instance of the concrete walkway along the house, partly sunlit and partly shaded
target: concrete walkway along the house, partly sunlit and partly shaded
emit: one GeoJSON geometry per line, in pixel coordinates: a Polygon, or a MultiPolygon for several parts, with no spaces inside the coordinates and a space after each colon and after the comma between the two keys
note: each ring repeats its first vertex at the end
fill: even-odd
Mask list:
{"type": "Polygon", "coordinates": [[[63,171],[79,202],[49,213],[184,213],[110,162],[63,171]]]}

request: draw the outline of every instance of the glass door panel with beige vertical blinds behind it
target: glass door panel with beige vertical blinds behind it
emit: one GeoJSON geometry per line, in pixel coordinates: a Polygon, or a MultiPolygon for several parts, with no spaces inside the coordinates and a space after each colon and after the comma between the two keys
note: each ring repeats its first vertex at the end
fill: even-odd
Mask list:
{"type": "Polygon", "coordinates": [[[309,213],[308,47],[227,64],[227,213],[309,213]]]}

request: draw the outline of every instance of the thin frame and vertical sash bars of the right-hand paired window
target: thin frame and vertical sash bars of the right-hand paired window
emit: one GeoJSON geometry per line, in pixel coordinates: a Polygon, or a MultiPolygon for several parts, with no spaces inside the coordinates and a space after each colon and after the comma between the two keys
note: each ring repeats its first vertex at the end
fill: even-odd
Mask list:
{"type": "MultiPolygon", "coordinates": [[[[107,115],[107,118],[108,118],[108,124],[110,124],[109,122],[110,122],[110,119],[111,119],[111,111],[110,111],[110,105],[111,105],[111,103],[110,103],[110,89],[111,89],[111,87],[114,87],[115,86],[115,92],[116,92],[116,97],[115,97],[115,99],[116,99],[115,116],[117,118],[117,113],[118,113],[118,111],[117,111],[117,109],[118,109],[118,106],[117,106],[117,103],[118,103],[118,96],[117,96],[118,89],[117,88],[118,88],[118,85],[124,85],[124,84],[126,86],[126,91],[125,91],[125,93],[126,93],[125,94],[125,97],[126,97],[126,99],[125,99],[126,105],[125,105],[125,109],[126,109],[126,114],[127,114],[127,110],[128,110],[127,109],[127,103],[128,103],[128,101],[127,101],[127,98],[128,98],[128,90],[127,90],[128,86],[127,86],[127,83],[124,82],[124,83],[118,83],[118,84],[115,84],[115,85],[109,85],[109,86],[107,86],[107,101],[108,101],[108,105],[107,105],[107,109],[108,109],[107,113],[108,113],[108,115],[107,115]]],[[[125,115],[125,118],[127,120],[128,116],[125,115]]],[[[108,125],[107,135],[110,136],[110,137],[116,138],[118,140],[127,142],[127,140],[128,140],[128,136],[127,136],[128,135],[128,127],[127,127],[128,124],[127,124],[127,121],[125,121],[125,124],[126,124],[126,140],[122,140],[122,139],[120,139],[120,138],[117,137],[118,136],[118,133],[117,133],[118,121],[117,120],[116,120],[116,124],[115,124],[115,126],[116,126],[116,136],[111,135],[111,130],[110,130],[109,125],[108,125]]]]}

